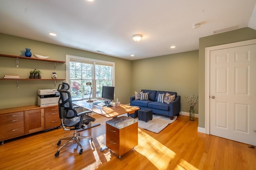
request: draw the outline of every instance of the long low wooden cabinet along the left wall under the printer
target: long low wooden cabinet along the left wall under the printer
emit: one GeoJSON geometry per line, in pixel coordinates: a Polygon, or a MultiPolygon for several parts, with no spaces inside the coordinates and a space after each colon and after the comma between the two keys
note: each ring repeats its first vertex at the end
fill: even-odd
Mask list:
{"type": "Polygon", "coordinates": [[[60,126],[58,106],[0,109],[0,141],[60,126]]]}

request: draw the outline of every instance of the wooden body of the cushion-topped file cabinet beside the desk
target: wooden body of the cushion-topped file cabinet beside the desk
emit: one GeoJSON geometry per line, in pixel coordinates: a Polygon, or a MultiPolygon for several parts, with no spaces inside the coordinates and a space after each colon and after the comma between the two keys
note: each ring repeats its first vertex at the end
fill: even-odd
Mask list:
{"type": "Polygon", "coordinates": [[[138,145],[138,122],[118,129],[106,123],[106,147],[122,156],[138,145]]]}

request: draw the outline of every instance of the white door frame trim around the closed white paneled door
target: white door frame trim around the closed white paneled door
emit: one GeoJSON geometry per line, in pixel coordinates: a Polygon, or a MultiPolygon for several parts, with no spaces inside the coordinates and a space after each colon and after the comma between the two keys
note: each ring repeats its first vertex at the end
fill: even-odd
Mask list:
{"type": "Polygon", "coordinates": [[[256,44],[256,39],[251,39],[247,41],[240,41],[236,43],[224,44],[224,45],[217,45],[213,47],[206,47],[205,48],[205,117],[204,117],[204,127],[205,133],[210,134],[210,52],[214,50],[220,49],[227,49],[233,47],[240,47],[244,45],[252,45],[256,44]]]}

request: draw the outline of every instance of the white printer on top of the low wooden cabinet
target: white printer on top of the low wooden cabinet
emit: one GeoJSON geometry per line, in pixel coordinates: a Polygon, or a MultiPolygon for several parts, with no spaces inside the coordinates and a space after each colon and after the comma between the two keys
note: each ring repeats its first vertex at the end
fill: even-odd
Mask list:
{"type": "Polygon", "coordinates": [[[60,98],[60,92],[56,89],[37,90],[38,106],[56,106],[60,98]]]}

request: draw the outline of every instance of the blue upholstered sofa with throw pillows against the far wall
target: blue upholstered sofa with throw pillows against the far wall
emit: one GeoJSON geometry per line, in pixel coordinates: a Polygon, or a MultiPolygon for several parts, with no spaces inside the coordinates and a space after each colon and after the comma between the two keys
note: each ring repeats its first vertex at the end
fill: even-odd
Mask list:
{"type": "Polygon", "coordinates": [[[138,106],[140,109],[150,109],[153,113],[166,115],[173,119],[175,115],[180,113],[180,96],[176,92],[141,90],[143,93],[148,92],[148,100],[135,100],[135,96],[130,97],[130,106],[138,106]],[[175,100],[169,104],[157,102],[158,94],[169,93],[175,94],[175,100]]]}

